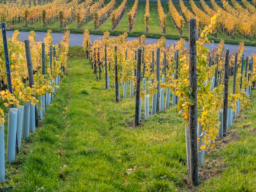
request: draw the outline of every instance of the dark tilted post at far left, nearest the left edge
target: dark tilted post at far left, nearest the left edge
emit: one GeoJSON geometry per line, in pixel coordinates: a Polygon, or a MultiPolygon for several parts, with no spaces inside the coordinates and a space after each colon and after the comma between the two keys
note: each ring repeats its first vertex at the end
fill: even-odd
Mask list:
{"type": "MultiPolygon", "coordinates": [[[[8,53],[8,45],[7,45],[7,36],[6,36],[6,26],[5,23],[1,23],[2,28],[2,37],[3,37],[3,44],[4,44],[4,58],[5,58],[5,67],[6,67],[6,75],[7,75],[7,83],[8,83],[8,91],[13,94],[12,85],[11,85],[11,68],[10,68],[10,60],[9,60],[9,53],[8,53]]],[[[10,108],[13,108],[14,105],[11,104],[10,108]]]]}

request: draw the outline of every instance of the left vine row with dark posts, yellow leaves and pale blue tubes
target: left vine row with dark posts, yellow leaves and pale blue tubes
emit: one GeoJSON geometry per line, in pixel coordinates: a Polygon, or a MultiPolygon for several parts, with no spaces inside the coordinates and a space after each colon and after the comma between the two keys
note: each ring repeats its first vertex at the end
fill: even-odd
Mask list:
{"type": "MultiPolygon", "coordinates": [[[[29,80],[29,88],[27,89],[35,90],[35,91],[29,92],[30,94],[28,95],[29,101],[23,100],[24,105],[22,106],[22,105],[19,105],[19,101],[14,96],[15,92],[13,93],[13,90],[12,90],[11,77],[14,76],[15,78],[15,75],[14,75],[15,71],[11,71],[10,69],[10,66],[13,65],[13,63],[10,63],[10,60],[9,60],[5,23],[1,23],[1,28],[2,28],[2,37],[3,37],[3,44],[4,44],[6,74],[7,74],[8,89],[9,89],[9,95],[7,100],[8,100],[8,103],[10,104],[9,113],[8,113],[9,116],[8,116],[6,160],[8,163],[14,163],[16,153],[18,154],[20,152],[22,139],[29,140],[29,131],[35,132],[36,127],[39,127],[39,121],[43,120],[43,114],[45,114],[46,106],[50,105],[53,99],[53,96],[56,93],[56,87],[60,85],[61,74],[62,74],[61,68],[63,67],[64,69],[64,65],[65,65],[62,62],[65,60],[64,54],[67,53],[66,52],[67,50],[65,50],[68,48],[66,44],[68,44],[69,42],[69,37],[67,38],[66,36],[69,36],[69,31],[68,33],[64,33],[64,36],[63,36],[63,41],[62,41],[62,46],[64,48],[63,52],[61,52],[61,44],[58,45],[58,48],[57,48],[58,50],[56,50],[55,46],[50,46],[49,49],[47,48],[47,50],[50,51],[49,55],[52,56],[52,58],[47,58],[47,61],[50,62],[49,63],[50,67],[47,67],[46,69],[45,42],[42,43],[41,54],[38,53],[39,55],[42,56],[40,68],[42,68],[43,78],[40,82],[45,83],[46,75],[47,75],[47,78],[49,78],[50,84],[51,84],[51,86],[49,87],[47,87],[47,85],[37,85],[38,83],[34,81],[34,77],[36,77],[36,80],[38,80],[37,76],[40,76],[39,71],[36,72],[37,76],[34,76],[34,71],[33,71],[33,65],[32,65],[33,59],[31,58],[31,52],[32,52],[31,45],[33,45],[32,48],[34,49],[34,44],[33,42],[31,42],[31,45],[30,45],[30,41],[25,40],[24,46],[25,46],[25,58],[27,60],[27,69],[24,69],[24,70],[28,71],[28,80],[29,80]],[[58,54],[56,54],[56,52],[58,52],[58,54]],[[58,62],[58,59],[59,59],[59,62],[58,62]],[[53,69],[54,69],[54,76],[52,72],[53,69]],[[59,71],[59,72],[56,73],[56,71],[59,71]],[[11,75],[11,73],[13,73],[13,75],[11,75]],[[36,88],[36,86],[39,86],[40,88],[43,87],[43,88],[38,89],[36,88]],[[16,108],[14,107],[14,104],[16,105],[16,108]]],[[[16,87],[14,86],[14,90],[15,88],[16,87]]],[[[2,116],[2,109],[0,109],[0,111],[2,116]]],[[[4,182],[5,181],[4,117],[1,118],[0,126],[1,126],[0,127],[0,182],[4,182]]]]}

